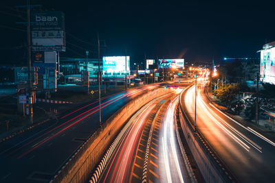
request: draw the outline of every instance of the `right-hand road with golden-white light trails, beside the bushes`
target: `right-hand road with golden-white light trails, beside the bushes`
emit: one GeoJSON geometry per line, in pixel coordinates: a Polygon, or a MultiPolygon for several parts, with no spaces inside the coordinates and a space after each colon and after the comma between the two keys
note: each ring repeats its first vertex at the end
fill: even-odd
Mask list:
{"type": "MultiPolygon", "coordinates": [[[[180,99],[195,119],[195,86],[180,99]]],[[[203,86],[197,95],[197,129],[239,182],[274,182],[275,143],[212,105],[203,86]]]]}

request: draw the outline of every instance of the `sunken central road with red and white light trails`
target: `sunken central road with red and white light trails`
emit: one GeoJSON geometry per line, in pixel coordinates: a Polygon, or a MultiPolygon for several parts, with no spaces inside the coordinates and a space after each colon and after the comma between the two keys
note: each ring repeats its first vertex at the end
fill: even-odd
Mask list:
{"type": "Polygon", "coordinates": [[[145,177],[147,182],[184,182],[186,168],[175,134],[175,96],[181,90],[170,90],[171,95],[152,101],[130,119],[99,182],[142,182],[145,177]]]}

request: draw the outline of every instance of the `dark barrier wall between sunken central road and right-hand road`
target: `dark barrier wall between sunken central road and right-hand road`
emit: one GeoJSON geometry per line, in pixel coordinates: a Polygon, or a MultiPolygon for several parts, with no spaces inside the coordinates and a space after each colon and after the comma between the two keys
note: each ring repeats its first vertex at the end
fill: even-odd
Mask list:
{"type": "MultiPolygon", "coordinates": [[[[190,88],[191,86],[189,86],[190,88]]],[[[195,131],[195,125],[192,117],[188,114],[186,106],[181,103],[181,97],[188,89],[184,90],[179,97],[179,119],[184,136],[192,151],[199,170],[206,182],[237,182],[229,169],[221,161],[219,156],[215,154],[214,150],[199,130],[195,131]]]]}

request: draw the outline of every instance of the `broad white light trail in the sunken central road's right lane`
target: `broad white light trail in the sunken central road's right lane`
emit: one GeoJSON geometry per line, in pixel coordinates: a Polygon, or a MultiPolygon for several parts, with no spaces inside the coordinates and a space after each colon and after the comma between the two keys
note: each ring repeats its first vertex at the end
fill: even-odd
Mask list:
{"type": "MultiPolygon", "coordinates": [[[[179,182],[184,182],[183,175],[181,173],[181,167],[179,166],[179,157],[177,154],[176,138],[175,138],[175,108],[177,106],[178,97],[173,99],[167,107],[166,118],[164,119],[164,136],[162,137],[163,152],[164,152],[164,169],[167,175],[167,181],[172,181],[170,164],[175,164],[177,169],[177,176],[179,182]],[[170,144],[169,144],[170,143],[170,144]],[[168,151],[170,153],[168,153],[168,151]],[[170,157],[172,156],[172,158],[170,157]]],[[[175,176],[173,176],[175,178],[175,176]]]]}

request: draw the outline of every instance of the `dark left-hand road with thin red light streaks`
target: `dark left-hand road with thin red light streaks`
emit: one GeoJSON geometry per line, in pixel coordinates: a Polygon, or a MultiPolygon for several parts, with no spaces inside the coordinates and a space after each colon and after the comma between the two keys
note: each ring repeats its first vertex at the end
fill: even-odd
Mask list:
{"type": "MultiPolygon", "coordinates": [[[[157,88],[144,86],[102,98],[102,121],[133,97],[157,88]]],[[[68,110],[0,144],[0,182],[48,182],[99,125],[98,100],[68,110]]]]}

